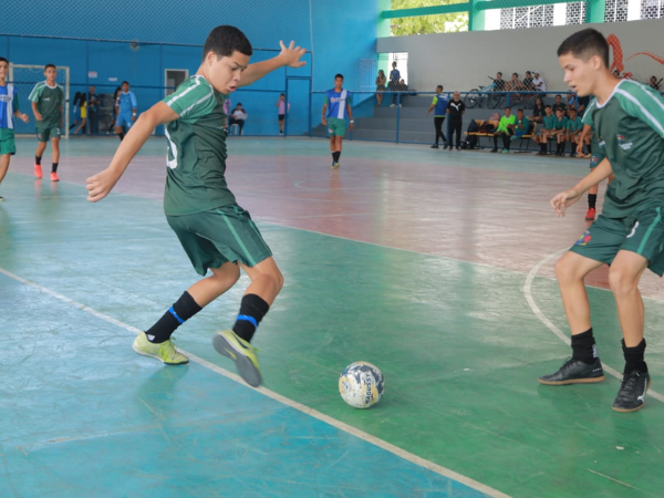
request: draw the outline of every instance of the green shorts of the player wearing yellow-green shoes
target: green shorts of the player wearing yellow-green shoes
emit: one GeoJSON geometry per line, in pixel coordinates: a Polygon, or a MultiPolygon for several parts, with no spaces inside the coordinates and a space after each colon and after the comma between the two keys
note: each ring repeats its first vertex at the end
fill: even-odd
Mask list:
{"type": "Polygon", "coordinates": [[[237,205],[166,219],[199,274],[228,261],[255,267],[272,256],[249,212],[237,205]]]}

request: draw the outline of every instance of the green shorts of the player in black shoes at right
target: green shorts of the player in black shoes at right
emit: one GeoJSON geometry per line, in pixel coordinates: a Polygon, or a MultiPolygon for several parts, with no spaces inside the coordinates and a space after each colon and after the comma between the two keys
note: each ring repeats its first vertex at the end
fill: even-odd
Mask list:
{"type": "Polygon", "coordinates": [[[579,240],[572,252],[611,264],[618,251],[632,251],[647,259],[649,268],[660,277],[664,273],[663,207],[652,208],[629,218],[598,217],[579,240]]]}

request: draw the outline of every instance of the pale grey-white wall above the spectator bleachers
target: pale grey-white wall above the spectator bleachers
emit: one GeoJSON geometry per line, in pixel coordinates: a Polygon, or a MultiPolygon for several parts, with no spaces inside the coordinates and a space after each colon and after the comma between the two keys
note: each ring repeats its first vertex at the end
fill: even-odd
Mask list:
{"type": "Polygon", "coordinates": [[[637,52],[664,58],[664,20],[611,22],[572,27],[531,28],[502,31],[471,31],[378,39],[378,52],[408,52],[408,84],[417,90],[467,91],[486,86],[497,71],[509,80],[512,72],[540,71],[547,90],[567,90],[556,51],[570,34],[592,27],[621,41],[625,72],[639,81],[664,76],[664,65],[637,52]]]}

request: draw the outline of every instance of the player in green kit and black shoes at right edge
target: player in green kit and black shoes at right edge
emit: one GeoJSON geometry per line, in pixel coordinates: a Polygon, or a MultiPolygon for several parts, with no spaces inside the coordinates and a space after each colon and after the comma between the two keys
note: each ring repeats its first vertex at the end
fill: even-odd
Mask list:
{"type": "Polygon", "coordinates": [[[613,402],[618,412],[643,406],[651,378],[644,361],[644,310],[639,281],[646,268],[664,272],[664,100],[652,89],[619,80],[609,70],[609,45],[595,30],[569,37],[558,49],[564,81],[579,95],[595,95],[589,106],[605,158],[551,206],[558,216],[591,186],[608,178],[602,214],[556,264],[562,303],[572,333],[572,357],[542,384],[564,385],[604,378],[590,321],[583,279],[609,263],[623,334],[625,367],[613,402]]]}

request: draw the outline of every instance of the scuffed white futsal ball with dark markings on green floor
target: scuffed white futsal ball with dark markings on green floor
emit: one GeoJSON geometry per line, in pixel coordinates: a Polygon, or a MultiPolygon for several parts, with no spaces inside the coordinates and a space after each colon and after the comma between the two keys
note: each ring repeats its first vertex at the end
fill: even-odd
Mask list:
{"type": "Polygon", "coordinates": [[[369,362],[351,363],[339,377],[339,392],[344,402],[355,408],[370,408],[383,395],[385,381],[376,365],[369,362]]]}

